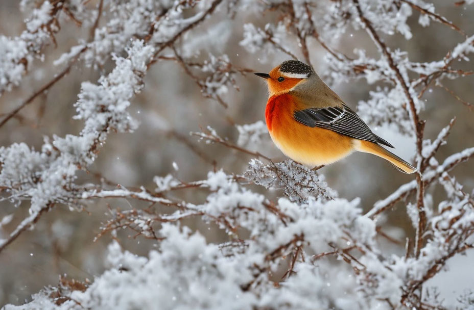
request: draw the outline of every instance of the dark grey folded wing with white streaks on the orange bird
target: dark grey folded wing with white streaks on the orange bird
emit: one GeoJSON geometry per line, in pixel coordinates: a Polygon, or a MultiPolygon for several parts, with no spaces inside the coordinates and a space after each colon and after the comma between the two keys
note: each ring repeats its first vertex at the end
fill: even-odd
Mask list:
{"type": "Polygon", "coordinates": [[[359,115],[346,105],[300,110],[296,111],[293,117],[306,126],[325,128],[351,138],[393,147],[393,145],[372,133],[369,126],[359,115]]]}

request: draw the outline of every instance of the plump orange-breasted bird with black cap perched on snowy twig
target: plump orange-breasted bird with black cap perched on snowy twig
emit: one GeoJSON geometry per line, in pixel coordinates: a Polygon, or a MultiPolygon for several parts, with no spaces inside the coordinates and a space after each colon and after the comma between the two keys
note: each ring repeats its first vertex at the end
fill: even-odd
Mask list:
{"type": "Polygon", "coordinates": [[[254,74],[267,82],[265,121],[270,137],[292,160],[321,167],[360,151],[381,157],[404,173],[417,171],[385,149],[393,145],[375,135],[310,65],[287,60],[269,73],[254,74]]]}

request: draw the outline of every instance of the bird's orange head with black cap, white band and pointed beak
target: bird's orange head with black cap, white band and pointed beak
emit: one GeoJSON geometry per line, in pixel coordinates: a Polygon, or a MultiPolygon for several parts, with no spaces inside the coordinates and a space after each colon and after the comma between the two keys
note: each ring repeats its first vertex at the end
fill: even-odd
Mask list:
{"type": "Polygon", "coordinates": [[[313,74],[316,73],[311,66],[298,60],[283,61],[270,73],[255,73],[267,80],[270,96],[293,90],[296,85],[304,83],[313,74]]]}

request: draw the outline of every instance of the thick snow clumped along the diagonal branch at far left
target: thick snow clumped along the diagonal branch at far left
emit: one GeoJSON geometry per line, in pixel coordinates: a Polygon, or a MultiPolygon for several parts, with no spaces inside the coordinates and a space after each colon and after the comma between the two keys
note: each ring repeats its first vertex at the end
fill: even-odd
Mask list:
{"type": "MultiPolygon", "coordinates": [[[[76,206],[74,198],[76,173],[92,164],[98,149],[112,131],[127,132],[136,127],[136,122],[126,109],[132,98],[143,87],[147,63],[153,47],[141,41],[132,41],[127,48],[128,58],[116,57],[116,67],[99,84],[84,82],[76,102],[76,119],[84,120],[80,135],[55,136],[53,141],[45,138],[41,151],[35,151],[25,143],[0,147],[0,188],[8,196],[5,199],[31,201],[31,216],[21,223],[27,227],[36,216],[55,203],[76,206]]],[[[19,226],[19,227],[20,227],[19,226]]],[[[10,239],[0,242],[2,250],[10,239]]]]}

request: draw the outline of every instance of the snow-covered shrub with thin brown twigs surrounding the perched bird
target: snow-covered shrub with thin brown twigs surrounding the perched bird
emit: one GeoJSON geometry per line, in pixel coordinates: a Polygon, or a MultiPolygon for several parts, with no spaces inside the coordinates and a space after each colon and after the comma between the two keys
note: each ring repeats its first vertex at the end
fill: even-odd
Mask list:
{"type": "MultiPolygon", "coordinates": [[[[121,198],[129,201],[130,209],[109,205],[107,220],[96,227],[100,230],[96,239],[113,239],[105,272],[84,281],[61,278],[59,285],[51,283],[31,301],[5,305],[5,310],[444,308],[443,300],[423,286],[443,271],[449,259],[474,245],[474,195],[452,174],[474,157],[474,147],[440,160],[437,151],[446,143],[454,119],[445,127],[437,126],[441,130],[436,139],[426,139],[422,98],[426,90],[439,86],[466,110],[472,108],[443,83],[472,73],[458,64],[464,65],[474,52],[474,36],[424,0],[92,3],[23,0],[21,8],[29,15],[26,30],[18,37],[0,36],[0,95],[4,95],[35,70],[34,59],[44,59],[46,45],[57,44],[61,24],[73,21],[89,30],[88,38],[77,38],[53,60],[65,67],[63,73],[3,115],[0,130],[66,73],[84,66],[101,74],[97,82],[82,82],[73,104],[73,118],[81,122],[82,130],[46,136],[39,149],[24,142],[0,147],[0,199],[18,209],[26,201],[29,212],[8,232],[4,226],[12,216],[2,216],[0,256],[20,235],[35,229],[44,214],[62,206],[78,211],[96,201],[121,198]],[[441,59],[416,62],[392,40],[396,34],[402,42],[415,39],[410,23],[415,12],[422,27],[437,22],[461,38],[441,59]],[[262,16],[265,24],[258,20],[262,16]],[[232,26],[226,25],[227,19],[232,19],[232,26]],[[257,22],[249,22],[252,19],[257,22]],[[312,46],[318,44],[325,53],[326,66],[320,72],[325,81],[364,78],[363,83],[375,84],[368,99],[359,102],[358,112],[369,125],[388,126],[412,139],[411,156],[420,173],[373,206],[364,205],[360,198],[340,197],[320,170],[291,160],[272,161],[258,147],[269,140],[265,124],[249,121],[237,125],[238,139],[224,138],[212,127],[183,137],[168,124],[157,126],[213,166],[200,180],[170,173],[155,176],[151,187],[117,186],[103,177],[100,183],[84,181],[110,134],[133,134],[140,126],[130,106],[152,83],[146,75],[157,66],[176,63],[202,97],[217,101],[216,109],[230,111],[229,101],[240,89],[241,76],[254,71],[237,64],[230,55],[233,51],[224,54],[220,49],[231,42],[230,32],[239,34],[235,45],[262,62],[283,55],[311,64],[312,46]],[[365,46],[369,40],[355,42],[352,55],[343,53],[340,43],[352,32],[365,32],[372,46],[365,46]],[[108,70],[110,63],[114,65],[108,70]],[[189,142],[196,136],[205,142],[199,149],[189,142]],[[211,144],[232,150],[232,157],[252,158],[246,167],[233,166],[239,168],[229,171],[219,166],[224,160],[212,160],[211,144]],[[427,192],[434,186],[443,191],[437,205],[427,192]],[[147,208],[138,202],[147,202],[147,208]],[[414,228],[406,245],[386,233],[393,227],[385,223],[385,215],[396,204],[406,208],[414,228]],[[225,241],[210,242],[206,229],[196,226],[214,227],[224,233],[225,241]],[[118,234],[124,230],[136,240],[151,240],[148,255],[135,255],[121,246],[118,234]],[[387,250],[391,243],[396,250],[387,250]]],[[[469,3],[457,5],[465,8],[469,3]]],[[[160,74],[165,79],[170,75],[160,74]]],[[[168,102],[167,108],[173,105],[168,102]]],[[[200,114],[193,109],[198,108],[186,111],[200,114]]],[[[223,119],[226,114],[220,113],[223,119]]],[[[180,117],[185,122],[188,115],[180,117]]],[[[176,171],[182,167],[175,162],[173,166],[176,171]]],[[[472,306],[472,294],[466,292],[459,292],[459,302],[472,306]]]]}

